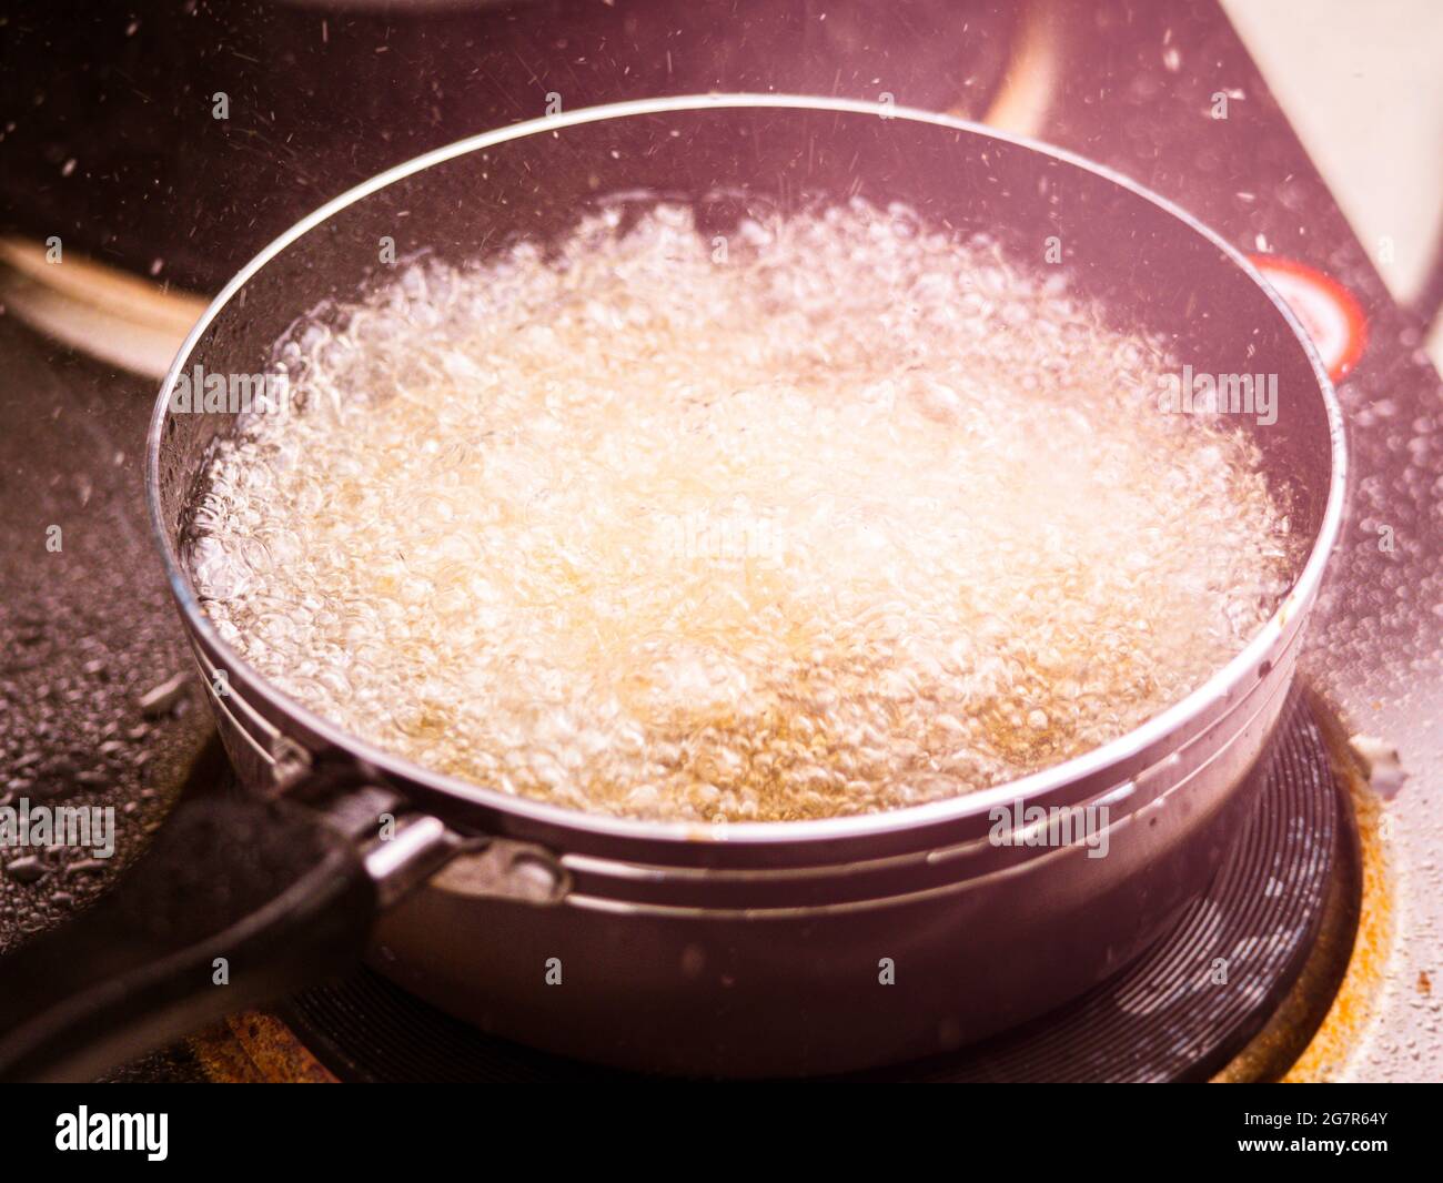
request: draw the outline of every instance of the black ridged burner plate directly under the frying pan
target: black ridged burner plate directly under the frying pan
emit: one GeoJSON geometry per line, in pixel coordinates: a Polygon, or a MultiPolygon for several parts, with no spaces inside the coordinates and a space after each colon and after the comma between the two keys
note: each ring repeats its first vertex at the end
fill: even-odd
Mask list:
{"type": "MultiPolygon", "coordinates": [[[[1263,1029],[1297,978],[1348,848],[1341,791],[1302,698],[1254,775],[1263,778],[1257,809],[1212,889],[1131,967],[1004,1036],[848,1079],[1124,1082],[1214,1075],[1263,1029]]],[[[491,1039],[371,971],[296,997],[283,1016],[342,1081],[622,1075],[491,1039]]]]}

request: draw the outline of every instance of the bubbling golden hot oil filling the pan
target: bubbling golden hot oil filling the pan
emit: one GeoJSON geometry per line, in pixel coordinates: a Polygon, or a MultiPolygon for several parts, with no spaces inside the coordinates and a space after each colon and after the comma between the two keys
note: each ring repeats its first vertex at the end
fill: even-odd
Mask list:
{"type": "Polygon", "coordinates": [[[652,819],[965,793],[1242,648],[1296,553],[1245,436],[1058,278],[863,203],[417,264],[278,351],[192,566],[286,692],[429,769],[652,819]]]}

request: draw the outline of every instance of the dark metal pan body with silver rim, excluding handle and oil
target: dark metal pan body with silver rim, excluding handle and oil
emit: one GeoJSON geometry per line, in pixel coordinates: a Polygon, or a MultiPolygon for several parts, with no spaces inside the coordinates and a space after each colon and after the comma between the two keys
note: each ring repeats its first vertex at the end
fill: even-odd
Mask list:
{"type": "MultiPolygon", "coordinates": [[[[216,299],[157,404],[150,502],[227,747],[273,786],[325,753],[499,845],[463,854],[382,920],[375,964],[488,1030],[690,1073],[830,1072],[954,1047],[1075,995],[1208,887],[1253,805],[1342,516],[1341,415],[1287,310],[1227,244],[1095,166],[941,115],[841,100],[719,95],[522,124],[411,162],[273,244],[216,299]],[[257,372],[299,313],[400,254],[473,258],[547,237],[612,195],[665,193],[726,219],[861,192],[986,229],[1199,372],[1278,377],[1251,430],[1309,541],[1257,638],[1188,700],[1102,749],[968,798],[867,818],[690,827],[580,815],[436,776],[342,734],[215,633],[182,561],[185,512],[232,415],[169,407],[180,372],[257,372]],[[403,218],[401,214],[405,214],[403,218]],[[224,678],[219,672],[224,671],[224,678]],[[991,811],[1105,805],[1107,854],[999,845],[991,811]],[[498,854],[499,851],[499,854],[498,854]]],[[[1206,512],[1199,505],[1199,512],[1206,512]]]]}

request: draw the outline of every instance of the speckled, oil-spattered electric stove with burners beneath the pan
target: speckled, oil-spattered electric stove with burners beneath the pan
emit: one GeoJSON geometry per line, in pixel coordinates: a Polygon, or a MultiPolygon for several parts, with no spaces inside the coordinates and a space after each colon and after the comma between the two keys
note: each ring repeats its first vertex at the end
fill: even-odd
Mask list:
{"type": "MultiPolygon", "coordinates": [[[[156,377],[205,293],[326,198],[550,102],[890,95],[1088,156],[1253,254],[1338,375],[1354,473],[1302,685],[1214,887],[1061,1011],[869,1075],[1443,1078],[1440,382],[1427,326],[1387,296],[1215,4],[17,7],[0,19],[0,804],[110,804],[120,825],[108,861],[0,858],[0,948],[63,923],[182,792],[225,776],[140,473],[156,377]]],[[[605,1075],[362,971],[117,1079],[605,1075]]]]}

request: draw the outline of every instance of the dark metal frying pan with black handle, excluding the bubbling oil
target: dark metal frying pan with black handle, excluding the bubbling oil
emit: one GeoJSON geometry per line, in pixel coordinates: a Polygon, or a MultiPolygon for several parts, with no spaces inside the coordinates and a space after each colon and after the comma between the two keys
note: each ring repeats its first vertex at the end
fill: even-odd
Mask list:
{"type": "Polygon", "coordinates": [[[1254,805],[1247,773],[1293,680],[1343,489],[1339,410],[1286,306],[1186,214],[1066,153],[895,105],[709,95],[518,124],[392,169],[247,265],[162,388],[150,514],[247,792],[182,802],[113,896],[0,964],[0,1068],[84,1076],[362,956],[486,1032],[690,1075],[896,1062],[1040,1014],[1208,889],[1254,805]],[[270,369],[296,317],[384,278],[382,238],[401,258],[465,264],[561,235],[618,195],[690,202],[719,232],[753,209],[861,195],[1022,258],[1056,239],[1072,287],[1118,326],[1162,335],[1196,372],[1277,375],[1276,421],[1228,426],[1253,434],[1307,542],[1291,590],[1241,654],[1131,733],[879,815],[593,817],[345,734],[258,677],[202,612],[188,511],[234,414],[172,408],[177,375],[270,369]],[[988,814],[1016,801],[1105,804],[1107,857],[994,844],[988,814]]]}

